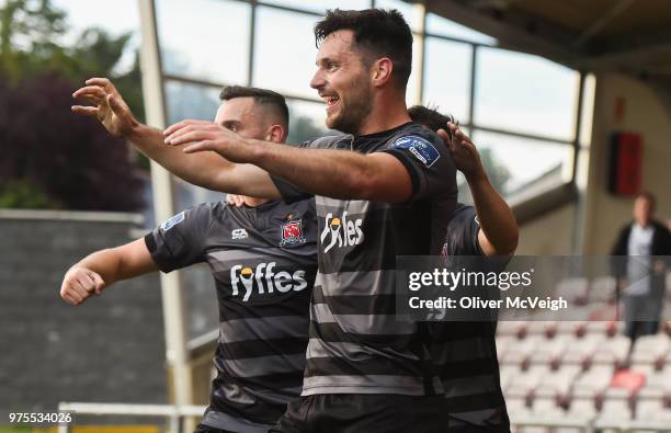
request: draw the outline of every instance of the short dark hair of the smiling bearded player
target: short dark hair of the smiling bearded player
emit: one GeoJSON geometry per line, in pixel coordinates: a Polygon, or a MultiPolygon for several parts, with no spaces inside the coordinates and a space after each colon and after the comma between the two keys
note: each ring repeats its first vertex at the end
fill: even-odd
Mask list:
{"type": "Polygon", "coordinates": [[[396,9],[365,9],[362,11],[328,10],[315,25],[317,47],[339,30],[354,32],[354,42],[368,53],[389,57],[394,64],[391,77],[405,89],[412,70],[412,31],[396,9]]]}

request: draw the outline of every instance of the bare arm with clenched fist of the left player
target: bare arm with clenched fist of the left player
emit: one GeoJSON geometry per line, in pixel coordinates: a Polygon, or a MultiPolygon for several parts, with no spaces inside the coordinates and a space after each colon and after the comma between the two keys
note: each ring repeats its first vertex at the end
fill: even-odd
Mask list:
{"type": "Polygon", "coordinates": [[[158,271],[144,239],[125,246],[96,251],[66,273],[60,285],[60,297],[71,305],[80,305],[93,295],[121,280],[158,271]]]}

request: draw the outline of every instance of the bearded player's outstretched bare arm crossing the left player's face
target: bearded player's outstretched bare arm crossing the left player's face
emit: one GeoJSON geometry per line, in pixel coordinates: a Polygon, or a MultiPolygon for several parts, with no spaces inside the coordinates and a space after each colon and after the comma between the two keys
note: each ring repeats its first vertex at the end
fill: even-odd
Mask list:
{"type": "Polygon", "coordinates": [[[384,152],[363,155],[271,145],[198,121],[180,122],[164,134],[168,145],[187,145],[183,149],[186,153],[214,150],[229,161],[252,163],[312,194],[388,203],[402,203],[412,195],[408,170],[396,157],[384,152]]]}

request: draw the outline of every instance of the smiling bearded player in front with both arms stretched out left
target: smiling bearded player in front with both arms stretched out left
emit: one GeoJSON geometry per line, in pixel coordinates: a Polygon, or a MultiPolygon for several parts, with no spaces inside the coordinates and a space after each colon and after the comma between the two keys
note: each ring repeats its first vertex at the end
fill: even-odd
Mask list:
{"type": "Polygon", "coordinates": [[[444,143],[408,116],[412,33],[397,11],[372,9],[329,11],[315,34],[310,84],[327,125],[349,135],[265,146],[202,121],[164,137],[132,122],[123,135],[191,183],[287,201],[315,195],[319,273],[303,395],[278,431],[443,432],[425,327],[395,305],[396,257],[440,253],[456,204],[444,143]]]}

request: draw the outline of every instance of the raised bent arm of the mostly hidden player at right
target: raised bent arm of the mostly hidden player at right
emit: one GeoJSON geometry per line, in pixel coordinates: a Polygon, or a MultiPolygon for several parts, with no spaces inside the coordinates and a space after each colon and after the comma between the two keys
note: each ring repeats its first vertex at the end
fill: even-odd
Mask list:
{"type": "Polygon", "coordinates": [[[447,124],[439,135],[448,144],[457,170],[462,171],[473,195],[480,232],[478,243],[487,257],[511,255],[518,248],[520,229],[515,216],[503,197],[489,182],[475,145],[455,124],[447,124]]]}

